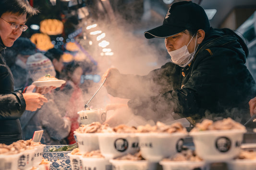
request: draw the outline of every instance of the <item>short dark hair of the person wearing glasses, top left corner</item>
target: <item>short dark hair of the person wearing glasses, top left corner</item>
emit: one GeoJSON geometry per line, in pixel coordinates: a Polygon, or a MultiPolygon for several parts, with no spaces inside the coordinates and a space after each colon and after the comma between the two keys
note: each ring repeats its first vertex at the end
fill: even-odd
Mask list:
{"type": "Polygon", "coordinates": [[[28,0],[0,0],[0,16],[5,12],[36,15],[39,11],[30,6],[28,0]]]}

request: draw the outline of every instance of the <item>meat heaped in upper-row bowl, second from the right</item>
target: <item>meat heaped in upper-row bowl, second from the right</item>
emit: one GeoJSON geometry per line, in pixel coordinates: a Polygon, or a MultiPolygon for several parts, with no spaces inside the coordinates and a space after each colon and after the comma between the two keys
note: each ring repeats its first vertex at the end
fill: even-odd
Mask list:
{"type": "Polygon", "coordinates": [[[139,125],[137,127],[138,133],[157,132],[157,133],[187,133],[187,130],[180,122],[173,123],[172,125],[165,125],[164,123],[157,122],[156,125],[139,125]]]}

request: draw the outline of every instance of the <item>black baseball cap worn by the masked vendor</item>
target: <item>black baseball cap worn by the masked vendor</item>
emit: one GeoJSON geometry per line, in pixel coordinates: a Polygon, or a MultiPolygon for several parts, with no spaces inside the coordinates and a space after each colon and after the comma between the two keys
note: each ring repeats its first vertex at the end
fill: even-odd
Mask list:
{"type": "Polygon", "coordinates": [[[169,8],[163,24],[144,33],[147,39],[166,38],[186,29],[202,29],[206,33],[210,23],[205,10],[192,1],[176,2],[169,8]]]}

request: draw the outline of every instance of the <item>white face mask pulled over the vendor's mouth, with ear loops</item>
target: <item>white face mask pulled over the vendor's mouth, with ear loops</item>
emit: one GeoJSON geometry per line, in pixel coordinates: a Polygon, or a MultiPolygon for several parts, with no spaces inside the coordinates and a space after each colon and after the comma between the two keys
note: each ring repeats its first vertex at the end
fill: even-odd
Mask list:
{"type": "MultiPolygon", "coordinates": [[[[193,37],[194,36],[195,35],[193,35],[193,37]]],[[[193,37],[191,38],[191,40],[193,39],[193,37]]],[[[195,36],[195,42],[196,42],[196,38],[197,36],[195,36]]],[[[191,42],[191,40],[189,41],[189,43],[191,42]]],[[[184,45],[183,47],[174,51],[170,51],[170,52],[168,51],[169,55],[171,56],[172,63],[177,64],[180,67],[186,67],[193,60],[196,50],[194,48],[194,52],[190,54],[187,49],[188,45],[184,45]]],[[[195,43],[195,46],[196,46],[196,43],[195,43]]]]}

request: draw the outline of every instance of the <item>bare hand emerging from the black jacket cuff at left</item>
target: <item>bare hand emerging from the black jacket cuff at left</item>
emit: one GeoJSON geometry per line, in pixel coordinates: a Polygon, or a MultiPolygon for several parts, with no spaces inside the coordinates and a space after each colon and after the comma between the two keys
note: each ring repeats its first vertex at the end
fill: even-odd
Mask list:
{"type": "Polygon", "coordinates": [[[44,95],[34,92],[23,93],[24,100],[26,102],[26,110],[36,111],[41,108],[45,102],[48,102],[44,95]]]}

